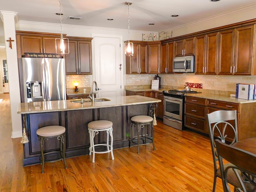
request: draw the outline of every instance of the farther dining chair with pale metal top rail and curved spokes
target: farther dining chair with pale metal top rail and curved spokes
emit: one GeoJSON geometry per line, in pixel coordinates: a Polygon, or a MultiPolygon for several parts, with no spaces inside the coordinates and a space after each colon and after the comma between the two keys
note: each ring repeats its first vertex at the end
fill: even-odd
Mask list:
{"type": "MultiPolygon", "coordinates": [[[[214,111],[207,114],[207,120],[214,164],[214,181],[212,192],[215,192],[217,177],[222,177],[220,174],[220,169],[217,166],[218,156],[216,153],[214,137],[220,139],[224,143],[228,142],[230,145],[238,141],[236,110],[214,111]]],[[[229,165],[230,164],[227,164],[226,166],[229,165]]]]}

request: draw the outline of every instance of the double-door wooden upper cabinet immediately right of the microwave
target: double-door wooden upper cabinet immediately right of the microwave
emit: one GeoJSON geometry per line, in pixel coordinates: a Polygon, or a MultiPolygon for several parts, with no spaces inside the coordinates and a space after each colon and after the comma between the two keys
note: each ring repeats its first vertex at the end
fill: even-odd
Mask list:
{"type": "Polygon", "coordinates": [[[218,37],[218,32],[196,37],[195,74],[217,74],[218,37]]]}

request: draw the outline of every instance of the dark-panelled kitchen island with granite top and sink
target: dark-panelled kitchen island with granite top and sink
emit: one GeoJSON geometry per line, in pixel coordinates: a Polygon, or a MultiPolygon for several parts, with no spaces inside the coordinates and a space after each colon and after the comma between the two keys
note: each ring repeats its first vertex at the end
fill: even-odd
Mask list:
{"type": "MultiPolygon", "coordinates": [[[[23,165],[40,163],[40,145],[36,130],[43,126],[60,125],[66,127],[66,157],[89,154],[89,133],[87,124],[94,120],[113,122],[114,148],[129,146],[130,117],[153,115],[153,104],[161,100],[144,96],[120,96],[107,98],[109,101],[73,103],[71,100],[20,103],[18,114],[28,135],[29,142],[23,145],[23,165]]],[[[134,131],[135,132],[135,131],[134,131]]],[[[151,132],[148,132],[149,136],[151,132]]],[[[135,137],[136,135],[134,135],[135,137]]],[[[95,136],[96,143],[106,142],[106,133],[95,136]]],[[[48,150],[59,148],[56,139],[49,139],[48,150]]],[[[59,158],[58,154],[48,156],[48,160],[59,158]]]]}

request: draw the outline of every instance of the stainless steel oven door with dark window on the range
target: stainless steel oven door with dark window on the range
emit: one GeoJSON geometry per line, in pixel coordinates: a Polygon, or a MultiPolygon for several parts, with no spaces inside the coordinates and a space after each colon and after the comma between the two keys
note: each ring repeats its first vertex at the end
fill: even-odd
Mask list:
{"type": "Polygon", "coordinates": [[[164,116],[182,121],[182,98],[164,97],[164,116]]]}

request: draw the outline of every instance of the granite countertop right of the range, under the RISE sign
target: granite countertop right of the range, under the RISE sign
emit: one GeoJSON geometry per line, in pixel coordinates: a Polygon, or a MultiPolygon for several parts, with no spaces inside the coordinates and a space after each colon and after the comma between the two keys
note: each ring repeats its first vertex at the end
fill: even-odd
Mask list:
{"type": "Polygon", "coordinates": [[[195,93],[195,94],[185,94],[185,96],[193,96],[198,98],[212,99],[224,102],[232,102],[232,103],[254,103],[256,100],[246,100],[246,99],[238,99],[231,96],[225,95],[216,95],[216,94],[206,94],[206,93],[195,93]]]}

